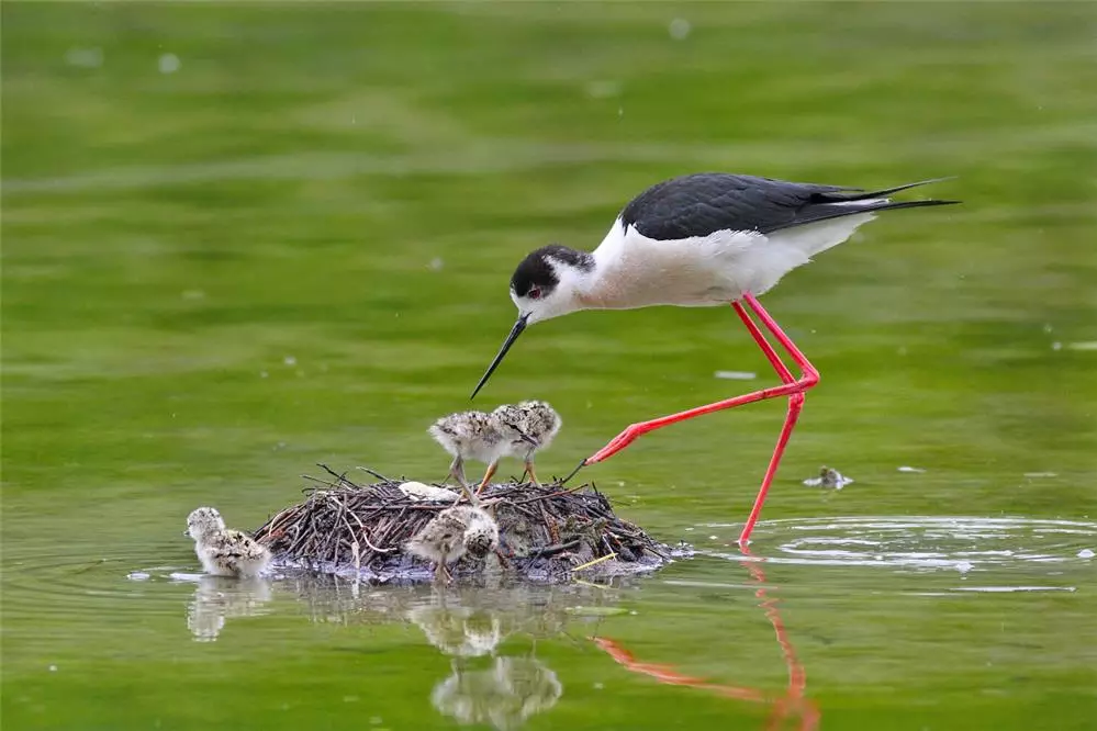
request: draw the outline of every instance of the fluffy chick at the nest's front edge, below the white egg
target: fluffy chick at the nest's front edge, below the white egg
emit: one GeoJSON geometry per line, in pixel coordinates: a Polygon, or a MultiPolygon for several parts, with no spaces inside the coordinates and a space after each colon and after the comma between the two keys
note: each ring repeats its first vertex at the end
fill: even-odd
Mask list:
{"type": "Polygon", "coordinates": [[[482,559],[499,548],[499,525],[486,510],[457,505],[438,513],[410,541],[407,552],[435,564],[435,578],[448,580],[448,565],[468,553],[482,559]]]}

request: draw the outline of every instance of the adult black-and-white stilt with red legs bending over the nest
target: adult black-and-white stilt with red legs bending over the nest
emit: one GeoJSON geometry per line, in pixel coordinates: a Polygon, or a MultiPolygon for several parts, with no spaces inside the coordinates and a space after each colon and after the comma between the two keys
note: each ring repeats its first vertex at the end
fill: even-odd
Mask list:
{"type": "Polygon", "coordinates": [[[788,396],[788,412],[776,448],[739,536],[739,542],[746,543],[796,425],[804,392],[819,381],[819,372],[757,296],[814,255],[848,239],[880,211],[958,203],[888,198],[939,180],[866,193],[859,188],[708,172],[652,185],[625,206],[593,252],[553,245],[523,259],[511,278],[511,299],[518,307],[518,319],[472,396],[488,382],[522,331],[534,323],[580,310],[730,303],[782,385],[633,424],[577,470],[608,459],[648,431],[725,408],[788,396]],[[799,378],[794,378],[781,361],[748,308],[788,352],[801,371],[799,378]]]}

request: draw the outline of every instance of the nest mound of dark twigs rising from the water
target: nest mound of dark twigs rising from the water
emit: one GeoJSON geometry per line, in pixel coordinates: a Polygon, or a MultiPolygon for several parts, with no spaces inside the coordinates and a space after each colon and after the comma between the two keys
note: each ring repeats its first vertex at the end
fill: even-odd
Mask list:
{"type": "MultiPolygon", "coordinates": [[[[324,466],[324,465],[321,465],[324,466]]],[[[327,468],[324,468],[327,470],[327,468]]],[[[421,581],[433,566],[404,550],[414,535],[452,501],[406,495],[402,481],[370,472],[378,482],[355,484],[327,470],[329,480],[309,477],[307,497],[267,520],[254,536],[278,564],[376,581],[421,581]]],[[[499,483],[480,494],[500,529],[494,554],[466,555],[455,576],[513,572],[535,581],[581,575],[619,575],[657,569],[671,549],[618,518],[593,484],[499,483]]]]}

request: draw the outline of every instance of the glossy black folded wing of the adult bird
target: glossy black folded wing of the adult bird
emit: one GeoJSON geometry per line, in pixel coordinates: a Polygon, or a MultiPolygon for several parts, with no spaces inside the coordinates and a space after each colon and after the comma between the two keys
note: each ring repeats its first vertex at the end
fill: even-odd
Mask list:
{"type": "Polygon", "coordinates": [[[708,236],[717,230],[769,234],[858,213],[954,202],[895,203],[884,198],[928,182],[936,181],[865,193],[860,188],[702,172],[652,185],[633,199],[620,217],[626,226],[631,224],[645,236],[659,240],[708,236]]]}

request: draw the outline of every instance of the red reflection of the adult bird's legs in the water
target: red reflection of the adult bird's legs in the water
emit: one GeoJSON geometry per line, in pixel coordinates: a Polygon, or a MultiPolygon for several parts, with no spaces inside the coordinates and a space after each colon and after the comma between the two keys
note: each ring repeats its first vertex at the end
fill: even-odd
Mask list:
{"type": "Polygon", "coordinates": [[[788,639],[784,620],[781,618],[781,610],[779,609],[780,599],[770,594],[770,589],[765,583],[765,571],[762,569],[759,560],[751,555],[747,547],[742,547],[741,551],[747,556],[747,560],[741,561],[740,564],[750,573],[751,578],[757,585],[754,596],[759,599],[758,606],[761,607],[765,614],[765,618],[770,620],[770,625],[773,627],[777,645],[781,648],[781,654],[788,670],[788,685],[784,694],[774,695],[759,688],[713,683],[705,678],[685,675],[675,670],[673,665],[640,662],[631,652],[622,646],[620,643],[609,638],[592,637],[590,639],[598,649],[605,651],[626,670],[648,675],[659,683],[685,685],[716,693],[725,698],[772,706],[764,727],[766,731],[776,731],[782,728],[785,719],[791,715],[799,718],[798,728],[801,731],[814,731],[819,726],[819,709],[813,700],[805,697],[807,674],[804,672],[804,665],[796,655],[796,649],[788,639]]]}

